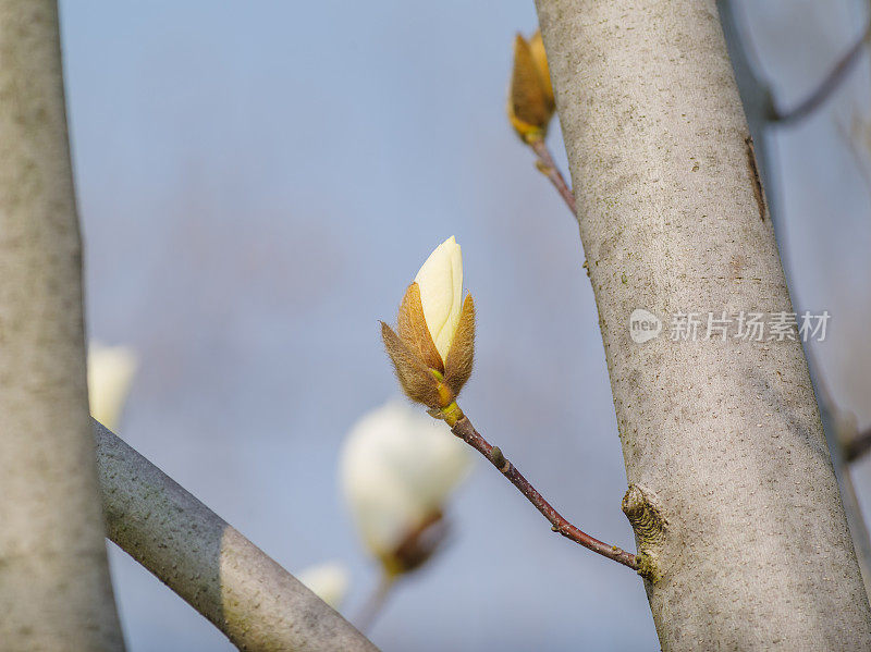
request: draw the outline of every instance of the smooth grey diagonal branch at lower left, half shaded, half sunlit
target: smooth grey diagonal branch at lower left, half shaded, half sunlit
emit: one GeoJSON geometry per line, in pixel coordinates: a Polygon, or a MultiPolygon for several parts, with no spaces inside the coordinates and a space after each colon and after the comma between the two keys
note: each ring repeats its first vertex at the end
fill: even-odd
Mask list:
{"type": "Polygon", "coordinates": [[[241,650],[377,652],[341,615],[97,421],[109,537],[241,650]]]}

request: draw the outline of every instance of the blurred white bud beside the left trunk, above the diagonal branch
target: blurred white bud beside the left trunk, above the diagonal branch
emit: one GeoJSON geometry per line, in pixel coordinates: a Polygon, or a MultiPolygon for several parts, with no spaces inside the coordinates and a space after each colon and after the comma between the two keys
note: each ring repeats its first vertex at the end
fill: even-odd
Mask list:
{"type": "Polygon", "coordinates": [[[126,346],[88,345],[88,403],[90,416],[116,430],[130,394],[138,358],[126,346]]]}

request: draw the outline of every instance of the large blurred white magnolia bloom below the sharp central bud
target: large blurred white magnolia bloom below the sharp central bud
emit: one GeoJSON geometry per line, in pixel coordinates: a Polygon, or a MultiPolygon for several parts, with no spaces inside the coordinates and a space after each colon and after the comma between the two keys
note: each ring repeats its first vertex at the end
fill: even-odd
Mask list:
{"type": "Polygon", "coordinates": [[[420,566],[437,550],[444,505],[470,466],[468,447],[410,406],[389,403],[354,426],[342,451],[342,490],[388,575],[420,566]]]}

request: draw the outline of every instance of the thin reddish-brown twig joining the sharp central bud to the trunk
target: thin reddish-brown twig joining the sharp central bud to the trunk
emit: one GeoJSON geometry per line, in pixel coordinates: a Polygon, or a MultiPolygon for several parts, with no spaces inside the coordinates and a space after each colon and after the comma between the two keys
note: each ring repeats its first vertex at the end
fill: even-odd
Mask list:
{"type": "Polygon", "coordinates": [[[490,463],[496,467],[500,472],[502,472],[502,475],[505,476],[530,503],[532,503],[532,505],[536,506],[536,509],[541,512],[544,518],[550,521],[552,526],[551,529],[554,532],[560,532],[566,539],[571,539],[575,543],[579,543],[584,548],[591,550],[594,553],[599,553],[609,559],[613,559],[618,564],[623,564],[624,566],[628,566],[634,570],[638,570],[638,561],[633,553],[626,552],[616,545],[609,545],[608,543],[603,543],[598,539],[593,539],[563,518],[563,516],[556,512],[556,509],[554,509],[548,501],[544,500],[544,497],[536,490],[536,488],[532,487],[529,481],[523,477],[523,475],[520,475],[520,471],[518,471],[511,462],[505,459],[502,451],[490,445],[488,441],[483,439],[477,430],[475,430],[475,427],[467,417],[464,416],[461,418],[451,428],[451,431],[473,448],[478,451],[481,455],[487,457],[487,459],[489,459],[490,463]]]}

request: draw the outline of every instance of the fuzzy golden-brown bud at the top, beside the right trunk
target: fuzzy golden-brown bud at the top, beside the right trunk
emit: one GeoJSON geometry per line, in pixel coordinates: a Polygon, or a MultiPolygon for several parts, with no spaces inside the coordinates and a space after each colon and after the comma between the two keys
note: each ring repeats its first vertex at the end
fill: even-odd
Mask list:
{"type": "Polygon", "coordinates": [[[508,120],[525,142],[544,138],[556,104],[541,33],[514,39],[514,67],[508,87],[508,120]]]}

